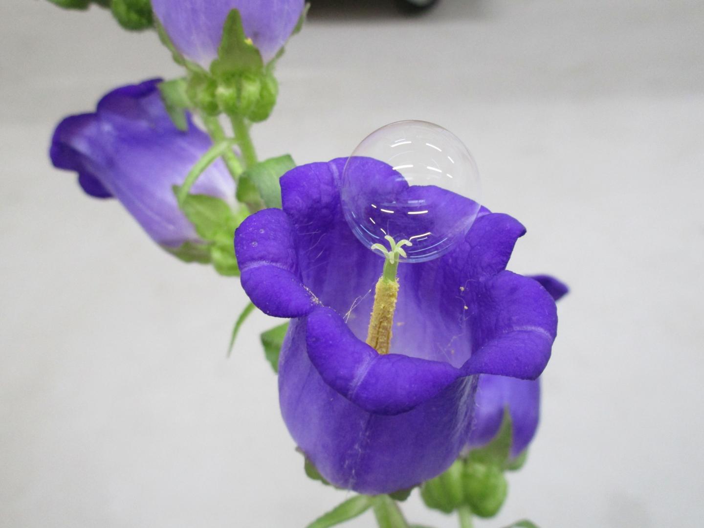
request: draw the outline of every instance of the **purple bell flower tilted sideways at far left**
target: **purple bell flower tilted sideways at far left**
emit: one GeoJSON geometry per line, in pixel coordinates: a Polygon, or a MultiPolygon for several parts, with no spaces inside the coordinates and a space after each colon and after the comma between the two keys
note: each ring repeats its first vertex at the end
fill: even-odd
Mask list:
{"type": "MultiPolygon", "coordinates": [[[[201,239],[177,205],[172,186],[212,142],[190,118],[178,130],[158,90],[160,80],[130,84],[103,96],[94,113],[63,119],[51,138],[51,163],[74,170],[83,190],[96,198],[117,198],[149,236],[166,249],[201,239]]],[[[216,161],[191,187],[234,203],[234,182],[216,161]]]]}

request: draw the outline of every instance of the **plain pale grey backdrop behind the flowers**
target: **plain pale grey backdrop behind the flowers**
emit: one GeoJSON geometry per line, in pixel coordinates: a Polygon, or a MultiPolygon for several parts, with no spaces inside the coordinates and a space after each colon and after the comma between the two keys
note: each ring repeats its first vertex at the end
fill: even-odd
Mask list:
{"type": "MultiPolygon", "coordinates": [[[[351,4],[314,0],[260,155],[327,160],[386,122],[437,122],[486,205],[527,226],[510,268],[572,287],[528,463],[477,526],[700,524],[703,4],[351,4]]],[[[253,317],[226,360],[237,280],[160,251],[47,160],[63,115],[179,70],[103,11],[1,10],[0,524],[302,527],[346,494],[303,476],[257,342],[275,320],[253,317]]]]}

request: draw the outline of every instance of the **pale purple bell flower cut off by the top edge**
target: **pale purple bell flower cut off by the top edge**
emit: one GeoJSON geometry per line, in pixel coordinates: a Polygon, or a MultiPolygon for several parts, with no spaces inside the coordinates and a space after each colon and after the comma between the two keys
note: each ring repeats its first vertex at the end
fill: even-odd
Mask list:
{"type": "Polygon", "coordinates": [[[176,49],[206,69],[218,56],[222,26],[232,9],[239,11],[244,33],[266,63],[286,44],[303,5],[304,0],[151,0],[176,49]]]}

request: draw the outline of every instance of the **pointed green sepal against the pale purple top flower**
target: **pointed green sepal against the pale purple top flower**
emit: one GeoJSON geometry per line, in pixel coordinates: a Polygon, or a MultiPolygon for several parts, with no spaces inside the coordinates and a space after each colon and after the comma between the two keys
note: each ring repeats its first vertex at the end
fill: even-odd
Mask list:
{"type": "Polygon", "coordinates": [[[233,77],[244,72],[260,73],[263,68],[262,56],[247,38],[239,11],[232,9],[222,27],[218,58],[210,64],[210,73],[220,78],[233,77]]]}

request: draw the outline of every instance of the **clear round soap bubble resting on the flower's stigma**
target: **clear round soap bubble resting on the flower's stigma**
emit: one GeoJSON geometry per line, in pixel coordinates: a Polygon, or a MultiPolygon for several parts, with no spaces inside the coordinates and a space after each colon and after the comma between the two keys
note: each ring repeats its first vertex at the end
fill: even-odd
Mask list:
{"type": "MultiPolygon", "coordinates": [[[[463,142],[425,121],[369,134],[342,174],[345,218],[367,248],[409,240],[405,262],[437,258],[463,239],[479,213],[479,171],[463,142]]],[[[381,253],[379,253],[381,255],[381,253]]]]}

